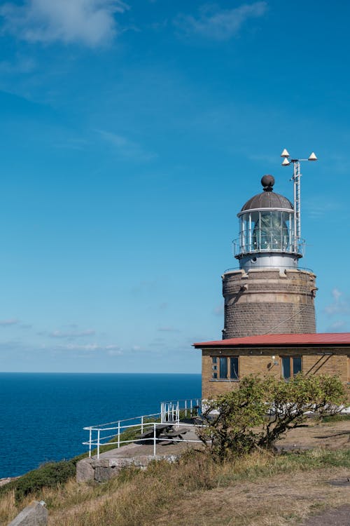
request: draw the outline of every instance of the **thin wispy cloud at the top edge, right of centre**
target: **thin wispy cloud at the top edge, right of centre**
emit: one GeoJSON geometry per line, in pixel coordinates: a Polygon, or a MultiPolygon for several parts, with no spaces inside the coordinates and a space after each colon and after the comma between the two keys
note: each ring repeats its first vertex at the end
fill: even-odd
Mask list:
{"type": "Polygon", "coordinates": [[[237,36],[244,22],[249,18],[259,18],[267,11],[267,2],[242,4],[233,9],[219,9],[206,4],[200,8],[200,15],[179,15],[175,25],[185,34],[197,34],[208,39],[229,40],[237,36]]]}

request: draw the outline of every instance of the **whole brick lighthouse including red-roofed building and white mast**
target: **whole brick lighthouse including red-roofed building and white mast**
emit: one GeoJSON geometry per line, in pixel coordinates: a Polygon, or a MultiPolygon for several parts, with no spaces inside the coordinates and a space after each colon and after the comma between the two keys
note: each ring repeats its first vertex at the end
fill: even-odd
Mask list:
{"type": "MultiPolygon", "coordinates": [[[[232,391],[247,375],[285,379],[337,375],[350,383],[350,332],[316,333],[316,276],[302,268],[300,161],[293,166],[293,203],[275,190],[274,177],[239,210],[234,242],[239,268],[223,274],[223,338],[193,344],[202,350],[202,399],[232,391]]],[[[258,183],[258,181],[257,181],[258,183]]]]}

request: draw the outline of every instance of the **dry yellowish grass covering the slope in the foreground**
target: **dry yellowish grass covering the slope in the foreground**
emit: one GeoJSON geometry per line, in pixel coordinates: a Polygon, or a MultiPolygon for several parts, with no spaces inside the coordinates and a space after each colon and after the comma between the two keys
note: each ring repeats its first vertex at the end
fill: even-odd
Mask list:
{"type": "MultiPolygon", "coordinates": [[[[298,525],[314,513],[349,503],[349,487],[328,480],[350,475],[349,423],[300,429],[309,439],[334,441],[337,450],[318,447],[299,455],[267,452],[215,464],[188,452],[178,464],[159,462],[146,471],[127,469],[104,484],[75,480],[43,488],[16,506],[13,492],[0,498],[0,525],[6,525],[32,499],[43,499],[49,526],[298,525]],[[338,429],[339,427],[339,429],[338,429]]],[[[306,440],[306,436],[305,436],[306,440]]],[[[301,440],[302,441],[302,440],[301,440]]]]}

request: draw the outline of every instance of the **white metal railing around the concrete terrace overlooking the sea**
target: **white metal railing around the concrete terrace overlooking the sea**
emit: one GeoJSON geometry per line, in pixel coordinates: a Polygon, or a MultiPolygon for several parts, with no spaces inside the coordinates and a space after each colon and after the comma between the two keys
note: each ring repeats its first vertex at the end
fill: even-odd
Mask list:
{"type": "MultiPolygon", "coordinates": [[[[160,424],[171,423],[176,426],[195,426],[195,424],[181,424],[180,418],[196,417],[201,412],[202,400],[200,398],[187,398],[186,400],[169,400],[162,402],[160,405],[160,412],[152,414],[143,414],[141,417],[131,417],[123,420],[116,420],[115,422],[107,422],[106,424],[98,424],[97,426],[84,427],[84,431],[89,431],[89,440],[83,442],[83,445],[89,447],[89,457],[92,455],[92,448],[97,448],[97,459],[99,459],[100,448],[104,445],[126,444],[131,442],[141,442],[145,438],[132,438],[131,440],[121,440],[121,435],[127,429],[137,429],[141,435],[145,429],[151,429],[153,426],[153,450],[155,454],[155,445],[158,440],[167,440],[169,442],[177,442],[178,440],[170,438],[159,438],[157,436],[157,427],[160,424]],[[158,422],[155,420],[158,419],[158,422]],[[112,439],[112,440],[111,440],[112,439]]],[[[148,438],[150,440],[150,438],[148,438]]],[[[200,440],[183,440],[184,442],[200,442],[200,440]]]]}

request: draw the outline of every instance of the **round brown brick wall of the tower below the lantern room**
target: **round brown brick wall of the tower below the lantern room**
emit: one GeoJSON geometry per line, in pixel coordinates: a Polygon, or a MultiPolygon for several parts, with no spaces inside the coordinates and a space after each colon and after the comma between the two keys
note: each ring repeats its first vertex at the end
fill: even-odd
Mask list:
{"type": "Polygon", "coordinates": [[[316,276],[308,271],[259,269],[223,275],[223,339],[266,333],[316,332],[316,276]]]}

